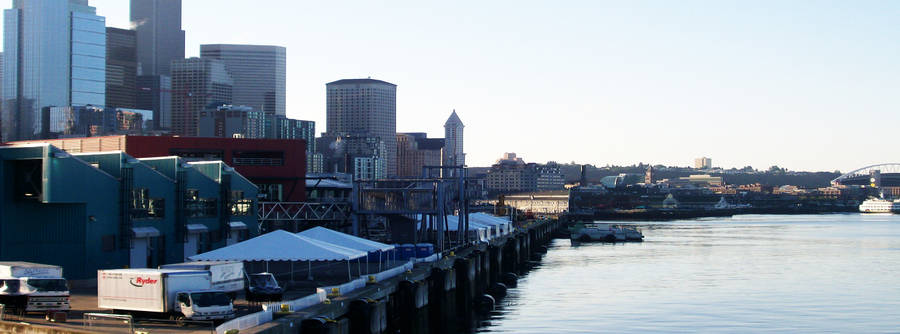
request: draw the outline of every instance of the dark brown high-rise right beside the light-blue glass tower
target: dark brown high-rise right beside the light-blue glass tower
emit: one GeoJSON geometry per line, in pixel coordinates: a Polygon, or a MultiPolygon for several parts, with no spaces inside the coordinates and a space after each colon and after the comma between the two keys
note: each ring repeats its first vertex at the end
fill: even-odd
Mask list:
{"type": "Polygon", "coordinates": [[[134,30],[106,28],[106,107],[137,108],[134,30]]]}

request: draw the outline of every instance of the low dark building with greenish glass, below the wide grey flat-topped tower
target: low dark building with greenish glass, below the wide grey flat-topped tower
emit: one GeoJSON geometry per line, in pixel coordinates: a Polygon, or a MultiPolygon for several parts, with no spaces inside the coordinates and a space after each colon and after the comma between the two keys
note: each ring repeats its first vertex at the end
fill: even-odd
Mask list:
{"type": "Polygon", "coordinates": [[[266,117],[248,106],[219,105],[200,112],[198,137],[265,138],[266,117]]]}

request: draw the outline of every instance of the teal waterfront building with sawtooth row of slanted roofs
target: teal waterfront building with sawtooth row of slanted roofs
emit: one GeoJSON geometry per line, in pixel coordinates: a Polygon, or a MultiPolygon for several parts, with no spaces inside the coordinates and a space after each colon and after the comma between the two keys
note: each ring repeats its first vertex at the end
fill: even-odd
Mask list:
{"type": "Polygon", "coordinates": [[[221,163],[49,144],[0,147],[0,162],[0,260],[60,265],[69,279],[181,262],[258,233],[256,187],[221,163]]]}

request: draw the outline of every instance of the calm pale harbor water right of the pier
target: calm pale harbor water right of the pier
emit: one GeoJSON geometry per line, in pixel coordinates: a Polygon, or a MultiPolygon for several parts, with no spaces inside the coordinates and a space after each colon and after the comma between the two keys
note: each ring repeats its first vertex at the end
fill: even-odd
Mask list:
{"type": "Polygon", "coordinates": [[[479,331],[900,333],[900,215],[638,224],[643,243],[554,240],[479,331]]]}

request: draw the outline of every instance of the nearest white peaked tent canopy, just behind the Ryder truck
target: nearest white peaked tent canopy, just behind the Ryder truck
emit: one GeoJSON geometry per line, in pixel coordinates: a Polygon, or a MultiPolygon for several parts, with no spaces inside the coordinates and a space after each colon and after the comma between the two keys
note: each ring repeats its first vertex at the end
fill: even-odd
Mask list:
{"type": "Polygon", "coordinates": [[[368,255],[366,252],[332,245],[277,230],[191,256],[192,261],[345,261],[368,255]]]}

